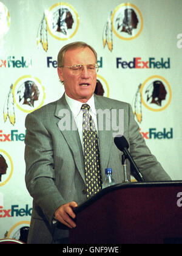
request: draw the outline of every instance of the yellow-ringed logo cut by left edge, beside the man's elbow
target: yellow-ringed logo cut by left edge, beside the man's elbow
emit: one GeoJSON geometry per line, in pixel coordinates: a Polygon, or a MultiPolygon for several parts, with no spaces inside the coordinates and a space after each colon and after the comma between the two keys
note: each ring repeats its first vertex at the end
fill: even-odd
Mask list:
{"type": "Polygon", "coordinates": [[[13,161],[10,155],[0,149],[0,187],[7,183],[13,174],[13,161]]]}

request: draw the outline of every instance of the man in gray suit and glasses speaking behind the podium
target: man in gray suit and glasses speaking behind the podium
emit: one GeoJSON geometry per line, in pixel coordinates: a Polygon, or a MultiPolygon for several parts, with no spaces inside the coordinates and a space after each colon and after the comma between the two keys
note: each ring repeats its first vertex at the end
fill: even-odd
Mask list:
{"type": "MultiPolygon", "coordinates": [[[[115,131],[106,129],[107,123],[112,122],[112,116],[106,117],[100,126],[97,110],[107,110],[107,113],[123,110],[122,122],[118,115],[116,121],[123,126],[130,154],[144,180],[170,180],[140,135],[130,105],[94,94],[96,63],[96,52],[86,43],[64,46],[58,54],[58,75],[65,93],[58,101],[27,115],[25,120],[25,182],[33,197],[28,243],[61,243],[69,236],[69,229],[76,227],[73,208],[89,198],[83,153],[83,104],[89,104],[89,113],[97,131],[100,184],[105,168],[113,169],[117,183],[123,182],[124,178],[122,152],[113,141],[115,131]],[[53,224],[55,220],[59,225],[53,224]]],[[[130,177],[129,163],[127,174],[130,177]]]]}

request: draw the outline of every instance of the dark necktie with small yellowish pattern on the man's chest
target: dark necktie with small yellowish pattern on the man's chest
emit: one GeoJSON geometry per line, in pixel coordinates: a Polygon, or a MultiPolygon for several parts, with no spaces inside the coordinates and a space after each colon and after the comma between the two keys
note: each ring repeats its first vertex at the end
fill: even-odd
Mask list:
{"type": "Polygon", "coordinates": [[[89,114],[90,106],[83,104],[83,146],[86,174],[87,199],[102,188],[101,167],[99,163],[98,138],[95,123],[89,114]]]}

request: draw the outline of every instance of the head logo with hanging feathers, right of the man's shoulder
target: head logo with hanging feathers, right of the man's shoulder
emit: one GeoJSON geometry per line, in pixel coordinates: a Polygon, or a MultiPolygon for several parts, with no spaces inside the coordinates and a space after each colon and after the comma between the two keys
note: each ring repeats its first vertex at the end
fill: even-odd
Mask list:
{"type": "Polygon", "coordinates": [[[163,111],[170,104],[172,92],[169,82],[162,76],[151,76],[137,88],[132,107],[136,119],[143,119],[142,105],[153,112],[163,111]]]}

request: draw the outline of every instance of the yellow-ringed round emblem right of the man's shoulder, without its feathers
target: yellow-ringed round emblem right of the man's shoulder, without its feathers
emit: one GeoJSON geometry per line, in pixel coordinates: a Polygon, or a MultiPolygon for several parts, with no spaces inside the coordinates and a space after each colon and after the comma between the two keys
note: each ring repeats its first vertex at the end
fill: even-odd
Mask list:
{"type": "Polygon", "coordinates": [[[162,76],[150,76],[140,88],[141,102],[154,112],[167,108],[172,98],[172,91],[166,79],[162,76]]]}

